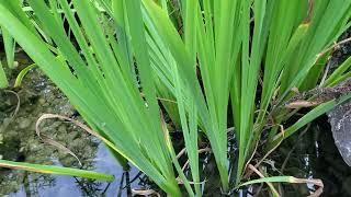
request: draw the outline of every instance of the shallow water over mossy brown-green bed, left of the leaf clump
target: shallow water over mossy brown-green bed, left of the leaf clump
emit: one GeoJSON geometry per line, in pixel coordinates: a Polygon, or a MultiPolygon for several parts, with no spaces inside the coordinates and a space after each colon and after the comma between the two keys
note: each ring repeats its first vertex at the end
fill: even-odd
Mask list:
{"type": "MultiPolygon", "coordinates": [[[[15,76],[18,71],[12,72],[15,76]]],[[[42,132],[75,152],[82,166],[75,158],[37,138],[35,123],[43,113],[60,114],[81,120],[68,100],[38,70],[31,71],[21,89],[13,92],[0,90],[1,159],[94,170],[113,174],[115,181],[109,184],[0,169],[0,196],[127,196],[131,188],[143,187],[139,184],[144,183],[139,171],[132,167],[131,172],[123,172],[100,141],[75,125],[46,120],[42,124],[42,132]],[[13,116],[19,99],[20,108],[13,116]],[[126,184],[126,181],[133,183],[126,184]]]]}

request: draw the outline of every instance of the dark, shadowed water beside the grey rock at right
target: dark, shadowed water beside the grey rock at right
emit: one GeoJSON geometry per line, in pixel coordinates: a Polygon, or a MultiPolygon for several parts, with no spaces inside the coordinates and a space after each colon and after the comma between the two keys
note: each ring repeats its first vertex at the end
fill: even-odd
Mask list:
{"type": "MultiPolygon", "coordinates": [[[[351,196],[351,167],[342,160],[332,138],[327,116],[314,121],[306,132],[287,139],[275,155],[276,166],[284,163],[283,174],[303,178],[320,178],[322,196],[351,196]]],[[[281,169],[282,170],[282,169],[281,169]]],[[[312,185],[284,184],[284,196],[307,196],[312,185]]]]}

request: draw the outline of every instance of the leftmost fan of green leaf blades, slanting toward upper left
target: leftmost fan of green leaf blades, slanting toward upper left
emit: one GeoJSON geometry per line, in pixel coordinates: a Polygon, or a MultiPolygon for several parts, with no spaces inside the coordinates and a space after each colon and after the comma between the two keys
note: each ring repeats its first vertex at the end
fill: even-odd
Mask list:
{"type": "MultiPolygon", "coordinates": [[[[152,177],[162,189],[170,194],[179,194],[165,142],[167,134],[161,129],[159,107],[152,93],[154,84],[152,81],[147,81],[151,74],[148,57],[145,57],[148,54],[147,49],[134,48],[135,53],[139,50],[138,71],[143,93],[146,95],[146,106],[136,83],[136,76],[132,72],[133,62],[128,63],[127,57],[122,54],[123,48],[115,39],[105,37],[101,21],[106,19],[91,2],[73,1],[81,20],[82,26],[80,26],[70,11],[69,3],[65,0],[59,1],[81,54],[66,35],[61,18],[55,16],[55,12],[50,12],[50,8],[44,1],[29,2],[63,58],[55,58],[47,44],[25,25],[30,23],[29,19],[15,16],[16,13],[12,12],[11,8],[16,7],[11,1],[0,3],[1,25],[9,32],[16,32],[12,35],[19,44],[67,94],[94,130],[111,140],[121,154],[152,177]],[[75,72],[72,73],[70,69],[75,72]]],[[[134,12],[134,9],[140,9],[137,1],[134,4],[131,1],[120,2],[132,9],[124,10],[125,16],[134,12]]],[[[140,11],[137,13],[141,14],[140,11]]],[[[140,16],[131,20],[133,21],[126,22],[141,23],[140,16]]],[[[139,27],[136,24],[133,28],[139,27]]],[[[134,44],[137,44],[138,39],[143,38],[135,36],[133,39],[134,44]]]]}

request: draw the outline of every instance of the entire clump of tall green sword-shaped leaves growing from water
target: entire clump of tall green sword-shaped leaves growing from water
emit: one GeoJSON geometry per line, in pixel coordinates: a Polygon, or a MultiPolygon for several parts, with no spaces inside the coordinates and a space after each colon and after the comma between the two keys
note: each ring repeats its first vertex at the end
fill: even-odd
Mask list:
{"type": "Polygon", "coordinates": [[[350,76],[349,61],[327,74],[335,42],[351,24],[350,0],[29,4],[0,0],[0,25],[113,151],[172,196],[180,196],[173,166],[189,195],[201,196],[199,130],[211,142],[228,192],[229,103],[239,147],[235,185],[240,185],[263,131],[267,157],[351,96],[303,95],[350,76]],[[161,105],[182,129],[194,187],[177,160],[161,105]],[[312,109],[287,125],[302,107],[312,109]]]}

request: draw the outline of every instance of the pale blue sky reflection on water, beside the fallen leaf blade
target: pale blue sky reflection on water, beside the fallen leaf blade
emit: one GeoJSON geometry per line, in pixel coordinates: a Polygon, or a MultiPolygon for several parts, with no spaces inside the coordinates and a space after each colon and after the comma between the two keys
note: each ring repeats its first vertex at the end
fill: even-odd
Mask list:
{"type": "MultiPolygon", "coordinates": [[[[110,152],[104,148],[103,144],[98,146],[95,159],[93,160],[94,170],[99,172],[110,173],[115,176],[115,181],[112,183],[99,182],[92,179],[81,179],[70,176],[49,176],[48,179],[36,179],[30,181],[29,187],[25,188],[22,185],[16,193],[12,193],[9,196],[127,196],[127,189],[125,183],[121,188],[121,181],[123,175],[122,167],[115,162],[110,155],[110,152]],[[50,181],[50,182],[49,182],[50,181]],[[50,184],[49,184],[50,183],[50,184]]],[[[132,169],[129,174],[135,176],[139,171],[132,169]]],[[[131,178],[132,179],[132,178],[131,178]]],[[[124,178],[125,181],[125,178],[124,178]]],[[[131,188],[139,188],[137,182],[132,183],[131,188]]]]}

